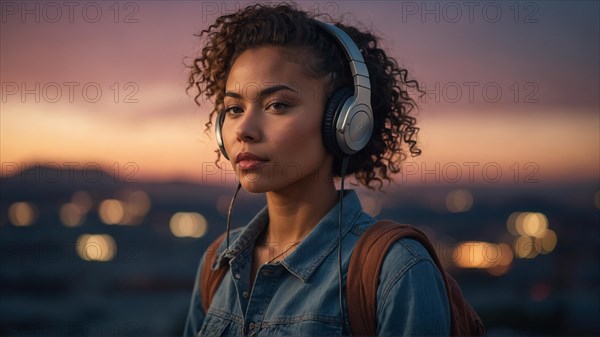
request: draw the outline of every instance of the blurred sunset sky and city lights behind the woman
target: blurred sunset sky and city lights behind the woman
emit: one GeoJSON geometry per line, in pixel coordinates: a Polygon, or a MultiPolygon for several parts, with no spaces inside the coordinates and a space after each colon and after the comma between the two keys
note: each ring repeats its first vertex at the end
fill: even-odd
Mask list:
{"type": "MultiPolygon", "coordinates": [[[[245,4],[1,2],[1,335],[181,334],[236,184],[186,58],[245,4]]],[[[599,3],[298,4],[427,91],[423,155],[365,210],[431,236],[489,335],[600,335],[599,3]]]]}

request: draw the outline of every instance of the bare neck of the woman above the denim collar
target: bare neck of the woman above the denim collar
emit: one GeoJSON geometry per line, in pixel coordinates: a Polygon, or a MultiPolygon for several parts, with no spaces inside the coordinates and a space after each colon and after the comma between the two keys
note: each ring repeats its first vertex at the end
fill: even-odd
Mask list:
{"type": "Polygon", "coordinates": [[[286,246],[302,241],[338,201],[333,182],[267,192],[269,225],[265,240],[286,246]]]}

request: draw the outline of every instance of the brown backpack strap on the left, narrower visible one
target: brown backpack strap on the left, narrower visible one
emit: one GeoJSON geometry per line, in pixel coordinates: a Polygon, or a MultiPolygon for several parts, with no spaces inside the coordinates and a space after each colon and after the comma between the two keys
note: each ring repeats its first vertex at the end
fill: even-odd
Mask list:
{"type": "Polygon", "coordinates": [[[229,266],[225,265],[217,270],[212,270],[212,265],[217,258],[217,249],[221,245],[221,242],[225,239],[227,233],[221,234],[210,246],[206,249],[204,264],[200,270],[200,294],[202,298],[202,308],[206,313],[210,307],[213,296],[217,292],[223,277],[229,270],[229,266]]]}

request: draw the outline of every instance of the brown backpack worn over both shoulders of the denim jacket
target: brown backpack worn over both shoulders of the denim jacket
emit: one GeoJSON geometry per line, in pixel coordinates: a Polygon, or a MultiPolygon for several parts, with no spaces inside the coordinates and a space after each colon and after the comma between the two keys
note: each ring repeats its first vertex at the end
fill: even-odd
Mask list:
{"type": "MultiPolygon", "coordinates": [[[[420,242],[440,270],[450,305],[451,335],[483,336],[485,333],[483,322],[462,296],[458,283],[442,268],[427,236],[412,226],[390,220],[378,221],[369,227],[356,243],[350,258],[346,294],[357,294],[346,297],[352,334],[376,335],[379,272],[389,248],[404,237],[420,242]]],[[[214,294],[229,270],[226,264],[217,270],[211,269],[216,259],[217,249],[224,238],[225,234],[222,234],[208,247],[206,260],[200,271],[200,293],[204,312],[208,311],[214,294]]]]}

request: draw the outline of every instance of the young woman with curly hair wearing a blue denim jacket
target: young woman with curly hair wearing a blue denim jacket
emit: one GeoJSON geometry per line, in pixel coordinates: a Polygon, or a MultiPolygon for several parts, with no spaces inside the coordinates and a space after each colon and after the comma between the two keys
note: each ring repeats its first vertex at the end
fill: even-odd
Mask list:
{"type": "MultiPolygon", "coordinates": [[[[267,205],[219,246],[214,266],[226,264],[229,270],[206,312],[196,285],[185,336],[351,333],[346,296],[352,294],[340,294],[339,282],[345,289],[354,245],[375,219],[362,211],[354,191],[344,191],[340,205],[333,178],[345,169],[359,183],[381,188],[399,171],[407,151],[420,153],[410,115],[415,102],[408,94],[419,87],[374,35],[335,25],[364,58],[366,84],[364,74],[357,80],[349,65],[352,47],[290,5],[250,6],[218,18],[200,34],[204,47],[191,67],[189,89],[198,103],[202,96],[213,100],[207,127],[217,121],[221,152],[241,186],[265,193],[267,205]],[[365,121],[368,114],[357,114],[359,125],[349,132],[362,136],[367,125],[368,136],[371,123],[372,133],[364,148],[347,155],[327,139],[332,126],[323,126],[331,124],[324,116],[332,106],[335,110],[336,101],[366,86],[372,117],[365,121]]],[[[206,259],[205,254],[201,267],[206,259]]],[[[396,242],[377,288],[378,335],[449,332],[439,270],[418,242],[396,242]]]]}

